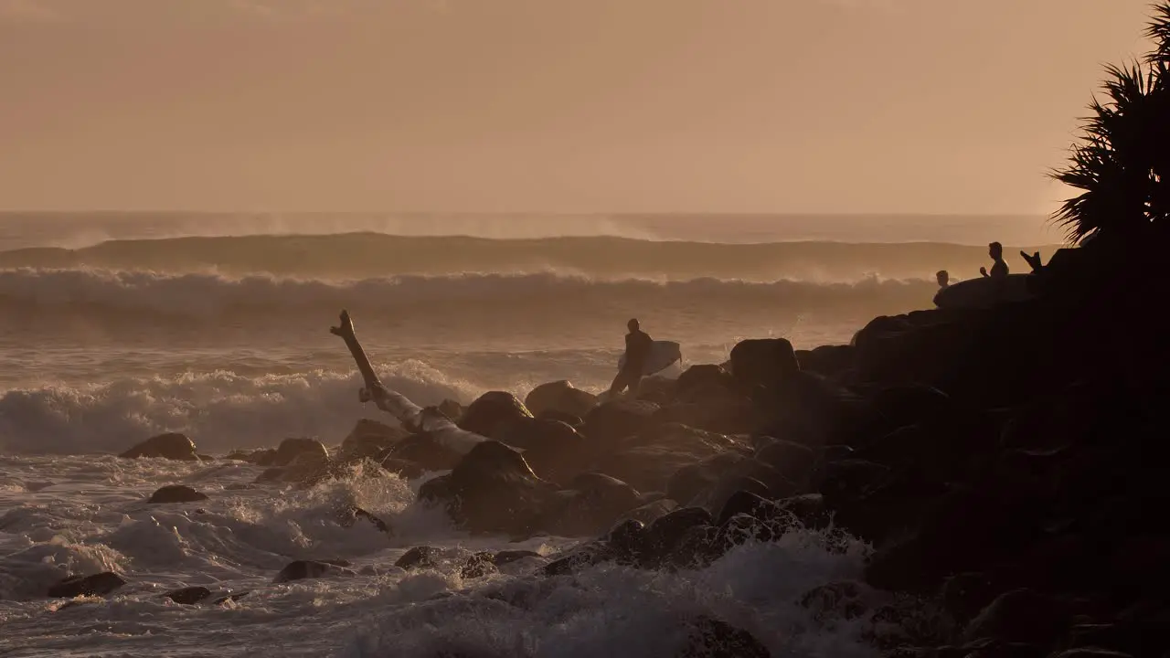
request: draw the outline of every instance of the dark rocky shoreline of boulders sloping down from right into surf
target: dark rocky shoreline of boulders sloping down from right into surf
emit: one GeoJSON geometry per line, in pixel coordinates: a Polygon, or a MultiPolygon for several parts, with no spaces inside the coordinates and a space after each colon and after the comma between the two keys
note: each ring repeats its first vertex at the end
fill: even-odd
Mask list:
{"type": "MultiPolygon", "coordinates": [[[[274,482],[449,471],[420,502],[473,534],[585,537],[537,560],[550,576],[601,561],[684,569],[794,528],[845,533],[873,547],[866,582],[804,604],[893,624],[874,638],[890,654],[1164,656],[1157,403],[1170,388],[1147,290],[1166,276],[1151,262],[1107,245],[1062,249],[1031,275],[1032,300],[879,317],[853,344],[811,351],[743,341],[728,363],[651,378],[636,399],[598,404],[556,382],[524,400],[496,391],[427,410],[487,439],[466,453],[364,420],[333,451],[290,439],[227,459],[267,466],[260,480],[274,482]],[[913,603],[868,610],[865,588],[913,603]],[[917,614],[934,621],[911,623],[917,614]]],[[[124,457],[201,459],[181,434],[124,457]]],[[[199,500],[171,489],[156,502],[199,500]]],[[[359,508],[339,519],[393,533],[359,508]]],[[[476,554],[462,570],[528,557],[476,554]]],[[[399,567],[435,560],[419,547],[399,567]]],[[[294,563],[276,580],[344,571],[294,563]]],[[[713,632],[735,639],[716,654],[766,656],[724,626],[713,632]]]]}

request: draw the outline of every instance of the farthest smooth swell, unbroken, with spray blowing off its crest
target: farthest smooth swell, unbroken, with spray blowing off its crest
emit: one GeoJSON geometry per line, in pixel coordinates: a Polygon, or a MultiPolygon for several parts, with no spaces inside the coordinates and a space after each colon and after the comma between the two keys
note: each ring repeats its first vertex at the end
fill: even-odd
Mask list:
{"type": "MultiPolygon", "coordinates": [[[[1025,265],[1014,255],[1018,249],[1005,249],[1013,268],[1025,265]]],[[[1026,249],[1052,253],[1046,246],[1026,249]]],[[[985,247],[932,242],[713,244],[610,237],[493,240],[378,233],[117,240],[82,249],[0,252],[0,268],[91,267],[314,279],[556,272],[592,279],[854,281],[865,276],[925,279],[938,269],[965,277],[965,273],[975,275],[986,260],[985,247]]]]}

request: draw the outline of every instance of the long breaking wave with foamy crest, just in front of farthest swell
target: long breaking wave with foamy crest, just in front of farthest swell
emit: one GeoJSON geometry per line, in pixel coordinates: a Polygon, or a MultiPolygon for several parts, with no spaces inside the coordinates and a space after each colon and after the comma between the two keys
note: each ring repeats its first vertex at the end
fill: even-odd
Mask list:
{"type": "Polygon", "coordinates": [[[321,281],[276,276],[158,274],[94,269],[0,270],[0,315],[57,311],[71,316],[133,311],[181,318],[247,317],[338,309],[379,314],[663,309],[713,313],[787,308],[805,311],[910,308],[928,302],[934,282],[863,279],[812,283],[693,279],[592,280],[556,274],[467,274],[321,281]]]}

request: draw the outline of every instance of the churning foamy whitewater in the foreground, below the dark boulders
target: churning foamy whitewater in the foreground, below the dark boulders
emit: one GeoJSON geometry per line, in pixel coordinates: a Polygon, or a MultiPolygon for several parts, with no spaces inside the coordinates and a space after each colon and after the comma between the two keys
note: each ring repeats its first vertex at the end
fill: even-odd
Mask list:
{"type": "MultiPolygon", "coordinates": [[[[260,468],[104,458],[0,458],[9,481],[39,491],[0,494],[0,651],[13,656],[673,656],[686,622],[722,618],[752,632],[772,656],[869,657],[868,619],[817,621],[807,590],[856,578],[866,547],[841,550],[821,533],[749,543],[697,571],[662,574],[603,564],[544,577],[519,561],[486,578],[456,567],[393,567],[426,543],[470,555],[483,549],[551,554],[573,543],[507,543],[452,529],[413,502],[418,482],[356,475],[309,489],[248,485],[260,468]],[[44,486],[44,479],[51,485],[44,486]],[[164,484],[211,498],[149,506],[164,484]],[[395,528],[342,528],[353,502],[395,528]],[[345,560],[352,576],[285,584],[297,558],[345,560]],[[67,573],[116,570],[129,584],[104,599],[41,598],[67,573]],[[165,591],[204,585],[248,592],[223,605],[179,605],[165,591]]],[[[453,564],[457,564],[456,560],[453,564]]],[[[878,595],[869,592],[874,606],[878,595]]]]}

